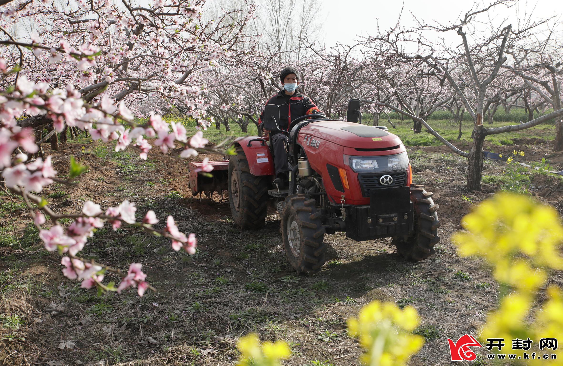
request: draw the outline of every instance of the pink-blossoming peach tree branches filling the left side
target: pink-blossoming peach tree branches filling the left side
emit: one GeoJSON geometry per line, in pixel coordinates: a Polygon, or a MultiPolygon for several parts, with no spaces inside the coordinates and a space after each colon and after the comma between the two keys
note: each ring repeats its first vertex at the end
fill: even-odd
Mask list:
{"type": "MultiPolygon", "coordinates": [[[[128,1],[77,0],[62,7],[54,2],[8,1],[1,8],[2,189],[11,199],[14,195],[24,199],[45,248],[62,255],[62,272],[81,280],[83,288],[121,292],[136,287],[140,296],[152,289],[141,264],[131,263],[125,274],[79,255],[88,238],[106,224],[117,230],[126,223],[164,236],[176,251],[195,253],[197,240],[195,234],[178,230],[172,216],[162,229],[154,226],[159,222],[154,211],[137,220],[137,208],[129,200],[105,211],[90,200],[80,213],[53,211],[41,196],[43,188],[53,182],[77,185],[87,167],[70,158],[68,178],[57,177],[52,158],[37,155],[34,129],[51,126],[62,132],[77,127],[90,132],[93,140],[115,141],[115,151],[136,149],[144,160],[153,145],[165,154],[179,145],[182,158],[198,155],[208,142],[202,131],[189,137],[181,123],[165,122],[154,112],[146,123],[137,123],[140,104],[132,101],[157,95],[164,104],[182,105],[205,130],[209,124],[202,96],[205,86],[197,75],[221,60],[248,57],[252,44],[242,29],[253,7],[204,20],[203,3],[156,1],[151,7],[140,7],[128,1]],[[25,24],[35,27],[35,32],[29,39],[16,39],[14,34],[25,24]],[[244,52],[238,51],[242,43],[244,52]],[[74,221],[65,227],[62,218],[74,221]],[[47,220],[52,223],[49,228],[47,220]],[[107,272],[121,276],[121,282],[104,283],[107,272]]],[[[212,170],[207,159],[201,169],[212,170]]]]}

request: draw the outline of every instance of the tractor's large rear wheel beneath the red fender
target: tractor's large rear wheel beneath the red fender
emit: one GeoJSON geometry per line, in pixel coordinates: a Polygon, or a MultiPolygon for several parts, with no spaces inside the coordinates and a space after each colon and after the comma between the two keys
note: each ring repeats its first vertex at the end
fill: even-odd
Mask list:
{"type": "Polygon", "coordinates": [[[229,159],[229,206],[233,219],[241,229],[264,226],[268,204],[266,176],[250,172],[244,150],[239,146],[229,159]]]}

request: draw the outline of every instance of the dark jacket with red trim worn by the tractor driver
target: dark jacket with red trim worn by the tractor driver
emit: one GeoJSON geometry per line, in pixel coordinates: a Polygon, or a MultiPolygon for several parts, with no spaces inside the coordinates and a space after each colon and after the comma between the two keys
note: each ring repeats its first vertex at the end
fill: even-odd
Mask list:
{"type": "MultiPolygon", "coordinates": [[[[268,104],[279,105],[280,107],[280,130],[288,130],[291,121],[301,117],[306,114],[322,114],[323,112],[312,102],[311,98],[302,95],[300,92],[296,91],[293,95],[289,96],[285,94],[285,89],[282,89],[276,95],[272,96],[267,102],[268,104]],[[289,108],[288,108],[289,104],[289,108]]],[[[258,128],[262,129],[264,120],[264,111],[260,114],[260,119],[258,120],[258,128]]]]}

